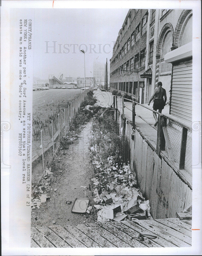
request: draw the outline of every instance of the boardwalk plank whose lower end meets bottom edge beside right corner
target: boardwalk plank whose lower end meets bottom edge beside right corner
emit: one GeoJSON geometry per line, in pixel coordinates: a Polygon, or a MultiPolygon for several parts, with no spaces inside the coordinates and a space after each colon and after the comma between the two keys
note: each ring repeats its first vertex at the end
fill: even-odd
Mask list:
{"type": "Polygon", "coordinates": [[[142,221],[135,221],[135,223],[150,230],[151,232],[154,232],[158,236],[166,239],[167,241],[175,244],[178,247],[189,247],[190,246],[188,243],[183,242],[182,240],[167,233],[165,230],[162,230],[162,229],[158,228],[156,225],[153,225],[152,223],[150,223],[150,221],[148,222],[148,221],[142,220],[142,221]]]}

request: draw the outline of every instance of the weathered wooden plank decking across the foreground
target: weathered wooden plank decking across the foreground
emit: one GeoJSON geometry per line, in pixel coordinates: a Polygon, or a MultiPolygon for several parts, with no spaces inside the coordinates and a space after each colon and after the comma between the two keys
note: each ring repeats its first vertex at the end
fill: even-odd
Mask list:
{"type": "Polygon", "coordinates": [[[31,228],[31,247],[190,247],[192,220],[178,218],[31,228]],[[140,234],[157,236],[139,241],[140,234]]]}

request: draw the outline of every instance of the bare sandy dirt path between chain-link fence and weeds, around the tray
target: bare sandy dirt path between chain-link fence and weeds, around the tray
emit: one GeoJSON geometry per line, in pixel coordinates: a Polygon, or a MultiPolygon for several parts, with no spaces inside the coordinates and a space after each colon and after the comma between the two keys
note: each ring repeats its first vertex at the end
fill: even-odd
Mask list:
{"type": "MultiPolygon", "coordinates": [[[[58,162],[58,170],[54,176],[51,187],[57,188],[48,194],[51,198],[40,205],[40,209],[32,210],[31,226],[53,225],[77,225],[95,222],[97,213],[73,214],[71,209],[76,197],[88,197],[89,205],[93,205],[92,191],[89,190],[91,178],[94,177],[94,170],[91,164],[89,153],[89,135],[91,133],[91,122],[85,124],[78,140],[69,145],[68,150],[61,150],[55,160],[58,162]],[[86,186],[84,189],[80,186],[86,186]],[[71,200],[70,205],[66,200],[71,200]],[[36,220],[37,219],[37,220],[36,220]]],[[[93,207],[94,208],[94,207],[93,207]]]]}

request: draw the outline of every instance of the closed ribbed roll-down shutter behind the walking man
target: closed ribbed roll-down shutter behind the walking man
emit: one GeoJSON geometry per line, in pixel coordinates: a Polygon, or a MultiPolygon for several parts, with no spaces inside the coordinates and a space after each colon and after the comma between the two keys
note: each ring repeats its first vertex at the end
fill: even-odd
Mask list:
{"type": "Polygon", "coordinates": [[[170,114],[192,122],[192,58],[173,63],[170,114]]]}

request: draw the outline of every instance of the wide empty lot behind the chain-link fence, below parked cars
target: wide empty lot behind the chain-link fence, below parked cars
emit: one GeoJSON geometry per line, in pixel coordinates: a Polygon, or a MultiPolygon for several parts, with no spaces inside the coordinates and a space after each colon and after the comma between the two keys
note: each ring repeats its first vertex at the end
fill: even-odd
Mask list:
{"type": "Polygon", "coordinates": [[[33,91],[33,128],[50,121],[50,116],[67,107],[68,102],[81,93],[80,89],[49,89],[33,91]],[[38,121],[38,123],[34,123],[38,121]]]}

